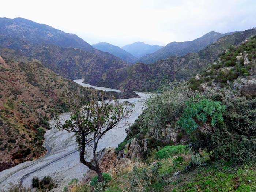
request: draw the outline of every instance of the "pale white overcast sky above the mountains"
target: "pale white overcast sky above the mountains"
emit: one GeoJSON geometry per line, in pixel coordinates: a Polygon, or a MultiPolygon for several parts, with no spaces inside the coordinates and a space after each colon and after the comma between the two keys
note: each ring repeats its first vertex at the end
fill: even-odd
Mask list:
{"type": "Polygon", "coordinates": [[[89,44],[166,45],[209,31],[256,27],[256,0],[3,0],[0,17],[23,17],[89,44]]]}

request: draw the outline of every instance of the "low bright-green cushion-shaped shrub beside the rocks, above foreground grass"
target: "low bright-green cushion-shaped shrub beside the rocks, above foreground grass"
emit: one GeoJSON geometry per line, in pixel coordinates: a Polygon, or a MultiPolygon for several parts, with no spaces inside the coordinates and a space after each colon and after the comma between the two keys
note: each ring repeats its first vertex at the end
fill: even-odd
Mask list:
{"type": "Polygon", "coordinates": [[[174,155],[180,155],[187,152],[188,146],[184,145],[172,145],[172,146],[165,146],[161,150],[157,151],[155,154],[155,159],[164,159],[170,158],[174,155]]]}

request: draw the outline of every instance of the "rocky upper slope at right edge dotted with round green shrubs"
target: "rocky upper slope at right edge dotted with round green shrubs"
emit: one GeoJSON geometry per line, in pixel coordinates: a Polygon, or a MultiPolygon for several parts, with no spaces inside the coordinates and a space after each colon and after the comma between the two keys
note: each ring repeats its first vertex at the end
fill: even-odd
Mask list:
{"type": "MultiPolygon", "coordinates": [[[[255,75],[256,37],[252,37],[240,46],[231,46],[219,59],[207,68],[198,78],[191,78],[193,90],[227,88],[233,93],[241,93],[241,89],[234,88],[238,79],[251,79],[255,75]],[[245,62],[246,61],[246,62],[245,62]]],[[[254,96],[254,95],[253,95],[254,96]]]]}

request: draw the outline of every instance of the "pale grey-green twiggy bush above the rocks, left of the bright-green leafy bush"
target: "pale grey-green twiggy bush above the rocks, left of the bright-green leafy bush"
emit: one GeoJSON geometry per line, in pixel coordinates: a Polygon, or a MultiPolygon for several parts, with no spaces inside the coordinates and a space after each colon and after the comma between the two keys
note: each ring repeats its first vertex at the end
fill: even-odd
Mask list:
{"type": "Polygon", "coordinates": [[[146,101],[142,116],[142,129],[149,136],[155,135],[167,123],[176,121],[185,107],[185,101],[193,95],[188,89],[188,84],[173,82],[170,86],[163,87],[162,94],[151,95],[146,101]]]}

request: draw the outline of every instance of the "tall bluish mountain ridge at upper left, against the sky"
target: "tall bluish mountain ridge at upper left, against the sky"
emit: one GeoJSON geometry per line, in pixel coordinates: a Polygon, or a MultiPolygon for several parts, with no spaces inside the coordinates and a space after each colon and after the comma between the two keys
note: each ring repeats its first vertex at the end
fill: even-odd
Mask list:
{"type": "Polygon", "coordinates": [[[65,33],[45,24],[24,18],[0,18],[0,34],[12,38],[23,37],[34,44],[42,42],[60,47],[74,47],[93,52],[93,47],[75,34],[65,33]]]}

